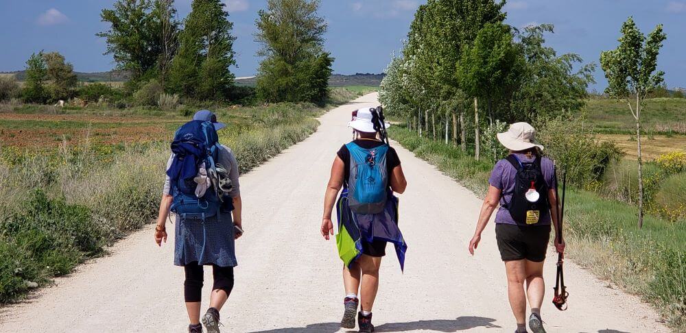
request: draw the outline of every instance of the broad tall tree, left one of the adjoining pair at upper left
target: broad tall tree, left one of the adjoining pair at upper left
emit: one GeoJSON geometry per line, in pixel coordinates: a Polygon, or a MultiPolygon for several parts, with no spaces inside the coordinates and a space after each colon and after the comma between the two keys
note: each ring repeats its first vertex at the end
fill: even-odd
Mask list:
{"type": "Polygon", "coordinates": [[[107,40],[105,54],[111,54],[117,69],[129,71],[137,81],[155,71],[162,53],[161,24],[152,0],[117,0],[113,9],[100,14],[110,24],[96,36],[107,40]]]}

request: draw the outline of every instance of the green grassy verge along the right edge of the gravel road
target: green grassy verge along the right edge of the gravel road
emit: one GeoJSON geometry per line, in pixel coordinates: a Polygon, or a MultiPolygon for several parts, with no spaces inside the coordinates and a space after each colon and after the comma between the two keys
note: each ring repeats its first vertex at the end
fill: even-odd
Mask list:
{"type": "MultiPolygon", "coordinates": [[[[476,195],[486,194],[492,162],[475,161],[459,147],[419,138],[401,126],[391,127],[389,132],[418,158],[434,164],[476,195]]],[[[647,215],[639,230],[635,206],[574,188],[567,190],[566,199],[568,256],[602,280],[640,295],[659,310],[672,328],[683,332],[686,221],[672,223],[647,215]]]]}

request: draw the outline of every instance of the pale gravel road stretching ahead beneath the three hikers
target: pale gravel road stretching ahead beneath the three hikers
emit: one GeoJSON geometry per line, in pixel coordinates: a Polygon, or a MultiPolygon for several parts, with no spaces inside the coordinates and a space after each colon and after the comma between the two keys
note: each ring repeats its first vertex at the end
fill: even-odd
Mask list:
{"type": "MultiPolygon", "coordinates": [[[[375,101],[367,95],[325,114],[318,132],[241,178],[246,235],[222,310],[225,332],[338,332],[341,263],[335,243],[318,234],[321,203],[334,153],[351,138],[351,110],[375,101]]],[[[410,248],[405,274],[394,256],[382,264],[377,331],[512,332],[493,225],[475,257],[466,251],[480,200],[395,147],[410,184],[400,213],[410,248]]],[[[112,256],[1,309],[0,332],[185,332],[183,271],[172,265],[171,243],[160,249],[152,234],[151,225],[117,243],[112,256]]],[[[554,310],[548,286],[549,332],[667,332],[637,297],[606,288],[571,262],[566,267],[569,310],[554,310]]],[[[552,260],[545,277],[552,282],[552,260]]]]}

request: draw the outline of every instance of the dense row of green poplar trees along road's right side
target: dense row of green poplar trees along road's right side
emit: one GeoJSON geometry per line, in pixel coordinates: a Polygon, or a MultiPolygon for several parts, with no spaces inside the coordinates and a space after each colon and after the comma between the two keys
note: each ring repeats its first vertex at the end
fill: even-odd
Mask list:
{"type": "Polygon", "coordinates": [[[402,54],[392,58],[381,82],[379,99],[388,112],[422,136],[445,134],[446,143],[451,137],[479,159],[484,130],[580,109],[595,83],[595,65],[545,46],[552,25],[517,29],[504,23],[504,4],[421,5],[402,54]]]}

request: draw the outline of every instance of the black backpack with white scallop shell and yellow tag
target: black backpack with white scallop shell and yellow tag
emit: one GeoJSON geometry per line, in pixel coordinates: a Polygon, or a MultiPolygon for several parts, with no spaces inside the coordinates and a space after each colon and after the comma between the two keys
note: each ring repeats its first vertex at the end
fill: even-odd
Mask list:
{"type": "Polygon", "coordinates": [[[506,160],[514,166],[514,169],[517,169],[517,175],[514,177],[512,199],[506,202],[504,207],[510,212],[512,219],[519,224],[539,223],[541,212],[549,209],[548,186],[545,184],[543,171],[541,171],[541,157],[536,156],[534,162],[521,162],[517,156],[510,155],[506,160]],[[532,188],[532,182],[539,193],[539,199],[536,202],[530,202],[525,197],[527,191],[532,188]]]}

